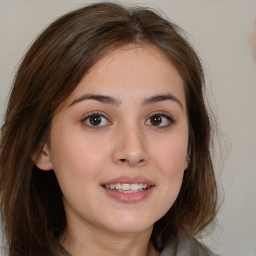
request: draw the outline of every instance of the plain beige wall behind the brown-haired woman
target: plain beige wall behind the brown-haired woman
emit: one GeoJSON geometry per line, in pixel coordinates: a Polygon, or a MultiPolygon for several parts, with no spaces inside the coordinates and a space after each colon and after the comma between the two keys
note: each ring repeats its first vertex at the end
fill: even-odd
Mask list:
{"type": "MultiPolygon", "coordinates": [[[[88,0],[0,0],[0,124],[14,69],[51,21],[88,0]]],[[[124,2],[124,1],[121,1],[124,2]]],[[[256,0],[137,0],[163,10],[188,37],[207,73],[208,96],[229,154],[219,183],[225,201],[220,227],[204,241],[227,256],[256,255],[256,62],[249,34],[256,0]],[[214,97],[212,96],[214,95],[214,97]]],[[[221,143],[224,144],[222,138],[221,143]]],[[[225,147],[217,154],[225,155],[225,147]]]]}

